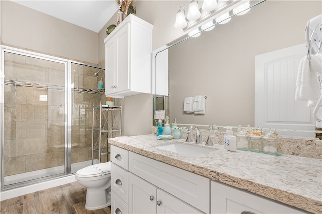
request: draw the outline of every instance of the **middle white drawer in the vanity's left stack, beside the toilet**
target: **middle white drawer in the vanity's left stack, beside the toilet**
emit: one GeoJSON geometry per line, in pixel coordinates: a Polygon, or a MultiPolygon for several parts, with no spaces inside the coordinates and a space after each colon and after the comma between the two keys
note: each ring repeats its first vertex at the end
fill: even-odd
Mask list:
{"type": "Polygon", "coordinates": [[[128,171],[111,164],[111,190],[128,203],[128,171]]]}

